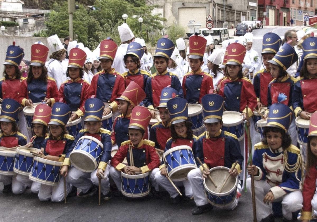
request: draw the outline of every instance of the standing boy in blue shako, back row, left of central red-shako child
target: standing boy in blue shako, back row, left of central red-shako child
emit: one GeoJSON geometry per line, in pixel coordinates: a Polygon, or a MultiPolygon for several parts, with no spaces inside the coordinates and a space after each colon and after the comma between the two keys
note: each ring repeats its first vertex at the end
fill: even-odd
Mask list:
{"type": "MultiPolygon", "coordinates": [[[[168,38],[160,38],[157,42],[154,65],[157,73],[152,74],[146,82],[146,99],[144,105],[148,108],[156,108],[159,105],[159,96],[163,88],[171,86],[180,97],[183,97],[182,85],[176,75],[167,71],[168,60],[170,59],[174,43],[168,38]]],[[[152,117],[155,118],[155,111],[151,110],[152,117]]]]}

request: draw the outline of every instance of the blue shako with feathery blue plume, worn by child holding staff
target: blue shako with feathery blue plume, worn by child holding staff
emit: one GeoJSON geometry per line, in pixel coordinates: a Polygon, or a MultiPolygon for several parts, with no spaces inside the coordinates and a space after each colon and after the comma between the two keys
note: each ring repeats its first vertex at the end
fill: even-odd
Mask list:
{"type": "Polygon", "coordinates": [[[280,93],[277,98],[278,102],[270,106],[266,127],[277,127],[287,132],[292,122],[293,111],[287,105],[281,103],[286,98],[287,96],[284,93],[280,93]]]}

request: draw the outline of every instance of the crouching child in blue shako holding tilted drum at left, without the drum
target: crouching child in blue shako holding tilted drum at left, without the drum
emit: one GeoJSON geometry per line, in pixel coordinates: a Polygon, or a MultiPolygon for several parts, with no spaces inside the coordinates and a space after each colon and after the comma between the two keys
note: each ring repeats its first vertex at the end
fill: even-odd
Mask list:
{"type": "Polygon", "coordinates": [[[66,158],[61,169],[61,174],[67,176],[66,181],[71,185],[80,188],[81,192],[78,197],[92,196],[96,193],[99,179],[101,180],[102,198],[107,200],[111,197],[109,184],[109,166],[108,161],[111,159],[111,139],[110,131],[101,128],[101,118],[104,109],[104,104],[100,99],[89,98],[85,102],[85,129],[79,131],[73,144],[66,153],[66,158]],[[91,173],[86,173],[77,169],[74,166],[68,170],[70,166],[69,154],[76,146],[78,140],[82,136],[92,136],[98,139],[103,144],[103,153],[100,157],[99,166],[91,173]],[[94,186],[95,185],[95,186],[94,186]]]}

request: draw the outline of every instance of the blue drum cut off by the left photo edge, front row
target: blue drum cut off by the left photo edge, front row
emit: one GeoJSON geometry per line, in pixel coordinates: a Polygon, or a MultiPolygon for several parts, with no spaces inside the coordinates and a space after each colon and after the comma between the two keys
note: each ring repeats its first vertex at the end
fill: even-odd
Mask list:
{"type": "MultiPolygon", "coordinates": [[[[6,148],[6,147],[1,147],[6,148]]],[[[15,175],[13,171],[14,159],[16,157],[16,150],[3,150],[0,151],[0,174],[3,175],[15,175]]]]}

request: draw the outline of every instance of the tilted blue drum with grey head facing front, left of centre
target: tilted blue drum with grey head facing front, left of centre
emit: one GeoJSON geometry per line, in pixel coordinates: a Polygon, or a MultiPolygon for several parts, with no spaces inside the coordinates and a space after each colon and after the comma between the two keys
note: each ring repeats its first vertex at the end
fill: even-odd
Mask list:
{"type": "Polygon", "coordinates": [[[102,153],[103,145],[98,139],[82,136],[69,154],[69,160],[77,169],[90,173],[97,168],[102,153]]]}

